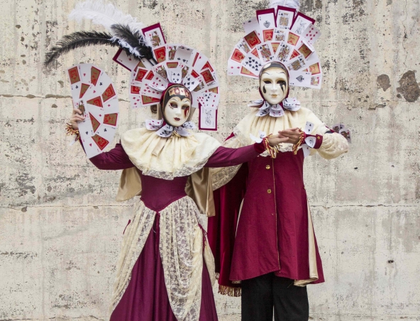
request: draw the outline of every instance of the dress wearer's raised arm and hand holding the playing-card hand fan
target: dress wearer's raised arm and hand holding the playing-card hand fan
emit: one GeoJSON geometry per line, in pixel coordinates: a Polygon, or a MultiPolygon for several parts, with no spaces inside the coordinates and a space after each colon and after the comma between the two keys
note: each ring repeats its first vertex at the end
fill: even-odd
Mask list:
{"type": "MultiPolygon", "coordinates": [[[[72,116],[70,117],[70,124],[72,124],[73,129],[79,129],[77,121],[83,120],[84,116],[82,111],[79,109],[73,109],[72,116]]],[[[79,142],[83,147],[82,140],[80,138],[79,142]]],[[[116,146],[111,149],[111,151],[96,155],[92,158],[89,158],[89,160],[96,166],[96,168],[99,168],[100,170],[123,170],[126,168],[134,167],[126,151],[124,151],[121,143],[117,143],[116,146]]]]}

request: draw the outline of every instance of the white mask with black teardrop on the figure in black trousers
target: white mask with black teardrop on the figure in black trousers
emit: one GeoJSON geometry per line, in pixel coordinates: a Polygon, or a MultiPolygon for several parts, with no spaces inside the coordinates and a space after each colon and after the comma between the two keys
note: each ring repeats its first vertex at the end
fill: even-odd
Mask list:
{"type": "Polygon", "coordinates": [[[281,68],[267,69],[260,77],[262,97],[271,105],[280,104],[289,90],[286,71],[281,68]]]}

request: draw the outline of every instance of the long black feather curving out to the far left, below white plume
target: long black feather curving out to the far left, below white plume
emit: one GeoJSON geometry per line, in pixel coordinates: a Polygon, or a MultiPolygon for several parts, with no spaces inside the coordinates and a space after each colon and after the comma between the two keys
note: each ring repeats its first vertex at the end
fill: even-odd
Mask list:
{"type": "Polygon", "coordinates": [[[77,48],[87,47],[89,45],[111,45],[113,47],[120,47],[118,40],[109,33],[102,33],[97,31],[77,31],[62,37],[57,42],[57,45],[45,55],[44,66],[51,67],[52,62],[57,60],[61,55],[70,53],[71,50],[77,48]]]}

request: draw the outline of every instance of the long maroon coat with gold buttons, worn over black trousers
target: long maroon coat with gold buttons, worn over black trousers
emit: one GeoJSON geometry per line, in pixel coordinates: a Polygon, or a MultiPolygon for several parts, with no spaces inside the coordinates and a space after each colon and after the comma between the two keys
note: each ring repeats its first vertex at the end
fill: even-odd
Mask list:
{"type": "MultiPolygon", "coordinates": [[[[317,137],[314,148],[322,143],[322,136],[317,137]]],[[[209,243],[221,293],[239,295],[235,281],[270,272],[293,280],[310,278],[303,165],[302,149],[297,155],[258,156],[214,192],[216,217],[209,219],[209,243]]],[[[324,274],[316,240],[315,249],[318,280],[314,283],[321,283],[324,274]]]]}

